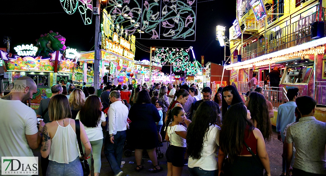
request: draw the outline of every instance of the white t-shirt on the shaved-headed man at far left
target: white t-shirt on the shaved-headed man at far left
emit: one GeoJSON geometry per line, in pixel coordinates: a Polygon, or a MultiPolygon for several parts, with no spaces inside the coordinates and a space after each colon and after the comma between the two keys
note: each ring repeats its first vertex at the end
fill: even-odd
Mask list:
{"type": "Polygon", "coordinates": [[[0,98],[0,107],[0,157],[34,156],[25,134],[33,135],[38,131],[35,111],[19,100],[0,98]]]}

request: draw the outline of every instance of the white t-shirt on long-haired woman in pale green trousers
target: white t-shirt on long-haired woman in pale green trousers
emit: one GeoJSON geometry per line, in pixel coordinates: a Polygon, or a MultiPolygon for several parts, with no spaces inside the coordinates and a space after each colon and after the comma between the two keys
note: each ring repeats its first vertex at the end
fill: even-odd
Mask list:
{"type": "MultiPolygon", "coordinates": [[[[76,119],[79,119],[79,112],[76,116],[76,119]]],[[[102,112],[101,119],[98,122],[97,127],[89,128],[83,124],[89,141],[97,141],[97,140],[103,139],[101,123],[105,122],[105,121],[106,121],[106,119],[105,119],[104,113],[102,112]]]]}

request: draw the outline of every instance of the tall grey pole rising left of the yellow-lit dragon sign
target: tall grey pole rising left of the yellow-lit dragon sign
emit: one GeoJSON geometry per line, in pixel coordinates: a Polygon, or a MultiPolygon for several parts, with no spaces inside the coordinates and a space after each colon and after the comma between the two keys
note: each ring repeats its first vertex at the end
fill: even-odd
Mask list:
{"type": "Polygon", "coordinates": [[[95,95],[97,95],[97,89],[99,88],[99,67],[100,67],[100,50],[98,43],[98,36],[100,31],[100,0],[96,0],[96,7],[99,10],[99,13],[95,16],[95,47],[94,47],[94,88],[95,95]]]}

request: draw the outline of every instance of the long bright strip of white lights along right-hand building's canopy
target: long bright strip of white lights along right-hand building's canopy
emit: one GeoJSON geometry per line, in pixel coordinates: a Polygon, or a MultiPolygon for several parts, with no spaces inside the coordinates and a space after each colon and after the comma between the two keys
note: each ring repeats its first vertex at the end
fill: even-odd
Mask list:
{"type": "Polygon", "coordinates": [[[286,48],[280,51],[275,51],[273,53],[265,54],[263,56],[259,56],[254,59],[250,59],[247,61],[236,62],[230,65],[224,66],[226,70],[233,69],[242,69],[242,68],[250,68],[255,64],[256,66],[273,64],[277,61],[284,61],[288,59],[292,59],[295,57],[301,57],[304,55],[311,54],[323,54],[325,50],[326,37],[313,40],[310,42],[306,42],[301,45],[297,45],[294,47],[286,48]]]}

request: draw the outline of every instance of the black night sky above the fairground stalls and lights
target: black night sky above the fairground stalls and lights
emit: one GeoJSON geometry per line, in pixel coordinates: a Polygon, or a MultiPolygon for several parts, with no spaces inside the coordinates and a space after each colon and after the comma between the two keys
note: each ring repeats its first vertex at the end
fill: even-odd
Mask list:
{"type": "MultiPolygon", "coordinates": [[[[205,56],[208,61],[221,63],[224,59],[224,48],[215,40],[216,25],[226,26],[226,36],[235,20],[235,0],[214,0],[197,3],[196,41],[172,41],[154,39],[136,39],[146,47],[190,47],[194,48],[196,60],[205,56]]],[[[93,5],[96,2],[93,0],[93,5]]],[[[66,46],[77,48],[77,51],[94,50],[95,16],[90,25],[84,25],[82,17],[77,10],[68,15],[61,6],[60,0],[7,0],[1,1],[3,7],[0,12],[2,25],[0,36],[11,37],[10,52],[13,47],[22,44],[36,45],[40,34],[49,33],[50,30],[58,32],[66,38],[66,46]],[[4,8],[6,7],[6,8],[4,8]]],[[[1,42],[0,47],[6,47],[1,42]]],[[[16,54],[16,53],[15,53],[16,54]]],[[[227,47],[226,56],[229,56],[227,47]]],[[[192,58],[192,57],[191,57],[192,58]]],[[[149,60],[149,53],[136,47],[135,60],[149,60]]],[[[163,67],[163,72],[170,72],[169,67],[163,67]]]]}

